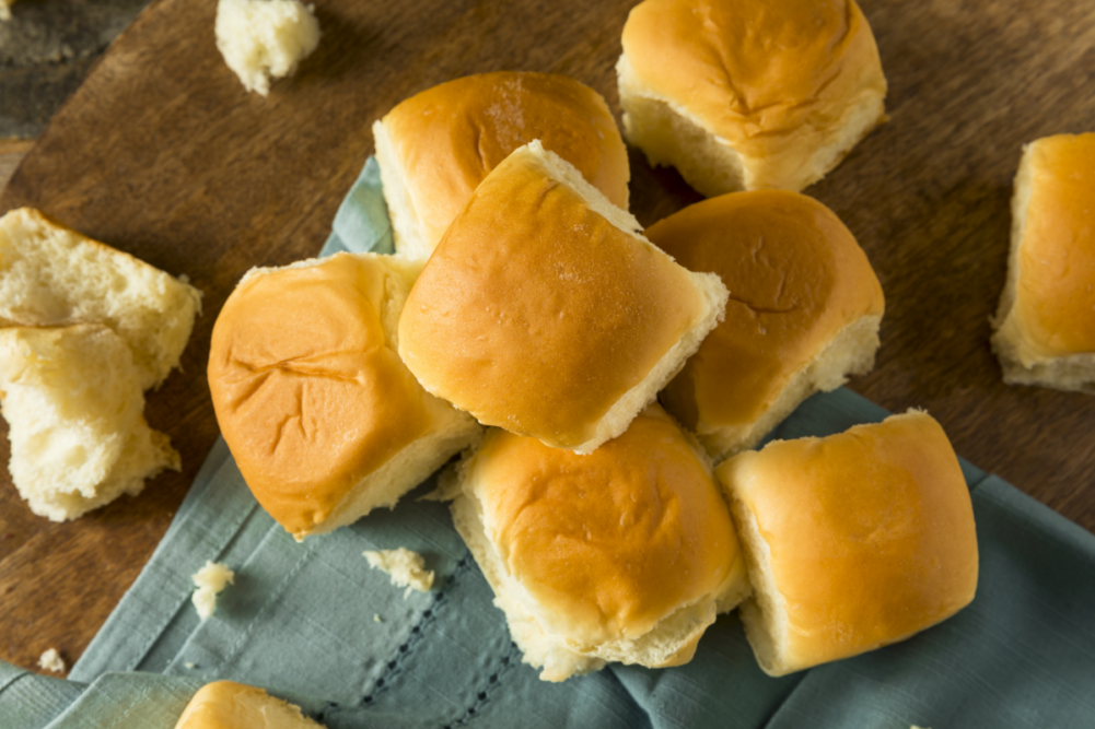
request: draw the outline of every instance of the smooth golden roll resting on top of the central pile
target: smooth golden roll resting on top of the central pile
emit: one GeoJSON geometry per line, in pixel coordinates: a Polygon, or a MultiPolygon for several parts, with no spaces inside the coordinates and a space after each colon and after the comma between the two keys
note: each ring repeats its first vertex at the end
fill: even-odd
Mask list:
{"type": "Polygon", "coordinates": [[[475,190],[400,320],[419,382],[484,425],[588,452],[623,432],[722,317],[718,277],[633,233],[534,142],[475,190]]]}

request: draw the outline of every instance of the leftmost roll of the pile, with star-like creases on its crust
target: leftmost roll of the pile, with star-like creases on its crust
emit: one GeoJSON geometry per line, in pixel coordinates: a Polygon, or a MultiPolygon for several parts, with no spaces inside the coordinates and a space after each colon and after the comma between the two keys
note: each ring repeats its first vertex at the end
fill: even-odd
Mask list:
{"type": "Polygon", "coordinates": [[[477,433],[395,352],[412,276],[374,254],[254,269],[217,319],[217,421],[255,498],[298,540],[393,506],[477,433]]]}

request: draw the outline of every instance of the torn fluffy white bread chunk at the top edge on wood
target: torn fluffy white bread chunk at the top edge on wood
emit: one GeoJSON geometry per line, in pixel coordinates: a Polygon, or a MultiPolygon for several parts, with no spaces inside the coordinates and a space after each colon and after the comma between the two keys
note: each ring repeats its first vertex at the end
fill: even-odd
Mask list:
{"type": "Polygon", "coordinates": [[[247,91],[269,93],[320,44],[314,5],[300,0],[220,0],[217,48],[247,91]]]}

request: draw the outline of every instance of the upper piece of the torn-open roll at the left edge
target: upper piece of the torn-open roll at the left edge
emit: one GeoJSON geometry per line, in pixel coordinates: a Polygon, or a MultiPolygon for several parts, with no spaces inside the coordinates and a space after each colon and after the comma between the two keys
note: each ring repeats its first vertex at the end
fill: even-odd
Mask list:
{"type": "Polygon", "coordinates": [[[201,292],[32,208],[0,218],[0,326],[106,324],[132,351],[141,390],[178,366],[201,292]]]}

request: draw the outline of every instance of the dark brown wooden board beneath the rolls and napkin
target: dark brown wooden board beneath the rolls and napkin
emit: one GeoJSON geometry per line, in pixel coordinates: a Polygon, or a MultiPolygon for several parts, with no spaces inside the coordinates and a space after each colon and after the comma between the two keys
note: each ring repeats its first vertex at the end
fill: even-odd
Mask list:
{"type": "MultiPolygon", "coordinates": [[[[76,522],[33,516],[0,475],[0,658],[71,664],[137,577],[217,437],[204,372],[212,323],[251,266],[314,255],[368,154],[372,121],[441,81],[566,73],[619,116],[632,0],[316,0],[324,37],[269,97],[221,62],[214,0],[158,0],[100,59],[0,195],[36,206],[205,291],[147,417],[183,472],[76,522]]],[[[863,0],[890,83],[889,123],[806,192],[851,228],[887,297],[875,371],[852,389],[924,407],[956,450],[1095,529],[1095,398],[1006,387],[989,349],[1022,144],[1095,129],[1095,4],[863,0]]],[[[699,196],[634,150],[644,224],[699,196]]],[[[0,460],[7,460],[0,438],[0,460]]]]}

